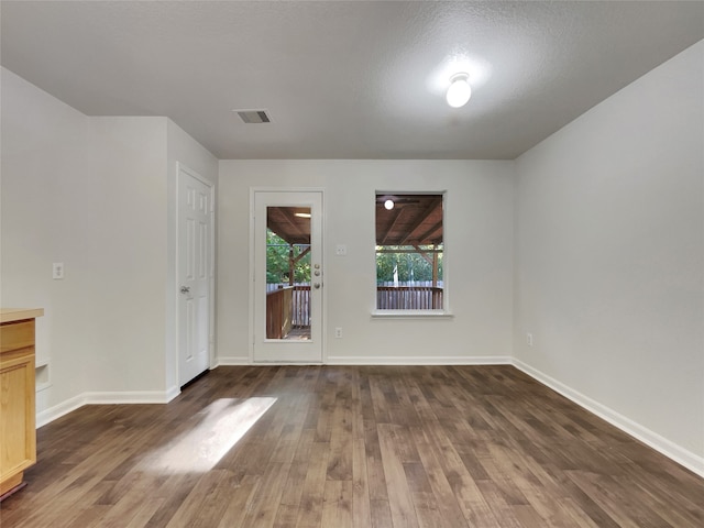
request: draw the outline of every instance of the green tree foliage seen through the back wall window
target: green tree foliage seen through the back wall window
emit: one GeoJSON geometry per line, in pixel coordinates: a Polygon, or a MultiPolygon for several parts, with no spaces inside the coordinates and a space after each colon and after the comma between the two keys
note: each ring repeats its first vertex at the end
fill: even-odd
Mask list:
{"type": "MultiPolygon", "coordinates": [[[[432,257],[432,248],[431,245],[420,246],[430,257],[432,257]]],[[[442,250],[442,245],[437,249],[442,250]]],[[[376,246],[376,283],[394,282],[394,271],[398,275],[399,283],[432,280],[432,265],[415,248],[410,245],[376,246]],[[380,251],[382,249],[385,251],[384,253],[380,251]],[[394,250],[400,251],[393,253],[394,250]],[[406,251],[411,251],[411,253],[406,253],[406,251]]],[[[442,252],[438,254],[438,280],[442,280],[442,252]]]]}

